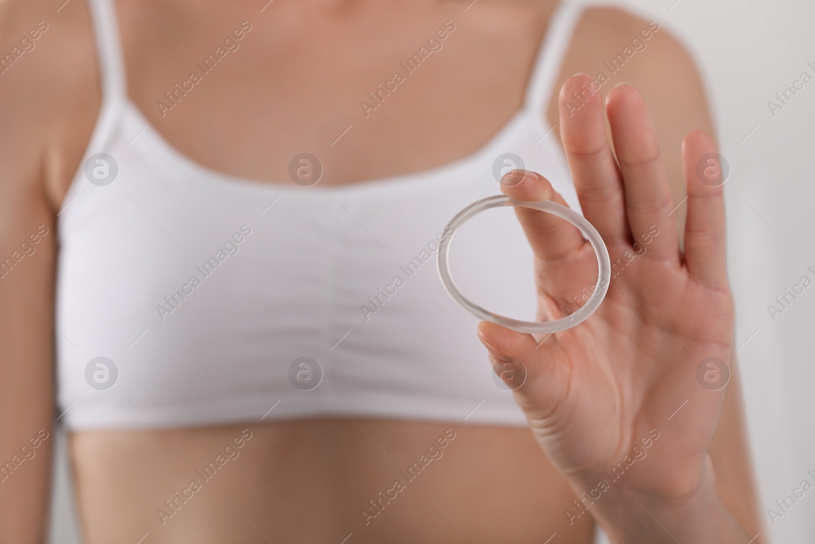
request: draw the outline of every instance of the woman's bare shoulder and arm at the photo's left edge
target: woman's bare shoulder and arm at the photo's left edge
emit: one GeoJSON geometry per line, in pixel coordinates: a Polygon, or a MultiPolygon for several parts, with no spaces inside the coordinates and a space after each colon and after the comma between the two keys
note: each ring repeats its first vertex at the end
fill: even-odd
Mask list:
{"type": "Polygon", "coordinates": [[[60,334],[54,326],[55,218],[99,101],[85,5],[72,2],[59,13],[51,2],[0,7],[6,59],[0,63],[2,544],[45,542],[47,534],[53,340],[60,334]]]}

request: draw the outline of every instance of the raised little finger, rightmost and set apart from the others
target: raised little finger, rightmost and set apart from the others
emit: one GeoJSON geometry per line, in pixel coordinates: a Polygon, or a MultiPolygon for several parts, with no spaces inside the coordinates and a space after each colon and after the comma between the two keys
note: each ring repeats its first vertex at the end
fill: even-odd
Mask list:
{"type": "Polygon", "coordinates": [[[685,263],[700,283],[721,288],[727,285],[724,179],[715,153],[716,144],[702,130],[685,136],[682,146],[688,190],[685,263]]]}

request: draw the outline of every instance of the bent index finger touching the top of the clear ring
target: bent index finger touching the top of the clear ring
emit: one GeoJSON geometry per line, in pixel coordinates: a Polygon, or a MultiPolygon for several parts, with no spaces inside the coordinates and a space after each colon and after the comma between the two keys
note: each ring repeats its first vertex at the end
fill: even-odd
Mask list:
{"type": "MultiPolygon", "coordinates": [[[[548,179],[530,170],[513,170],[504,175],[501,178],[501,191],[520,201],[554,201],[568,206],[548,179]]],[[[520,206],[515,207],[515,213],[538,259],[556,261],[584,245],[579,229],[557,215],[520,206]]]]}

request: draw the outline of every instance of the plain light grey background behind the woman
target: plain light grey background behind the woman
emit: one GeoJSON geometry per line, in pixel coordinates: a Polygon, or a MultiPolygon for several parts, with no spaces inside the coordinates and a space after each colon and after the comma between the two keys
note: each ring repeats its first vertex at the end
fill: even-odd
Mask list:
{"type": "MultiPolygon", "coordinates": [[[[767,307],[804,274],[813,278],[807,265],[815,269],[815,81],[775,117],[767,103],[802,72],[815,77],[806,64],[815,65],[815,2],[617,3],[681,38],[707,82],[720,153],[731,167],[725,188],[736,346],[764,536],[785,544],[813,542],[815,490],[774,525],[767,509],[804,478],[815,484],[806,473],[815,472],[815,285],[775,321],[767,307]]],[[[56,434],[50,542],[79,544],[64,436],[56,434]]]]}

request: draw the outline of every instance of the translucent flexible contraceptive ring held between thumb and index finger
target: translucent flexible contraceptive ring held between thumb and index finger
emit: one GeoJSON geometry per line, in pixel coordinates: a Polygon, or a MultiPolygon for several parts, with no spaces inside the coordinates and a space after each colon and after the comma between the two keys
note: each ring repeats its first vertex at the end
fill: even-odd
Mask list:
{"type": "Polygon", "coordinates": [[[505,195],[496,195],[495,197],[477,201],[464,210],[461,210],[450,223],[447,223],[444,232],[450,232],[450,234],[439,243],[437,260],[438,275],[442,278],[444,290],[447,291],[447,294],[449,294],[460,307],[463,307],[482,321],[492,321],[498,325],[504,325],[504,327],[508,329],[517,330],[519,333],[529,334],[548,334],[571,329],[571,327],[585,321],[588,316],[591,316],[594,311],[597,310],[597,307],[600,306],[609,288],[611,259],[609,259],[609,252],[606,249],[606,244],[603,243],[600,233],[597,232],[597,229],[592,226],[592,223],[589,223],[582,215],[579,215],[575,210],[571,210],[566,206],[557,204],[557,202],[526,202],[515,200],[505,195]],[[480,214],[484,210],[498,208],[500,206],[522,206],[524,208],[531,208],[533,210],[540,210],[552,215],[557,215],[557,217],[566,219],[566,221],[579,228],[580,232],[583,232],[583,236],[591,242],[594,252],[597,254],[597,285],[595,285],[592,296],[589,297],[588,302],[585,303],[583,307],[580,307],[577,312],[555,321],[521,321],[485,310],[478,306],[478,304],[471,302],[461,293],[461,290],[450,275],[449,256],[453,236],[456,235],[459,227],[474,215],[480,214]]]}

